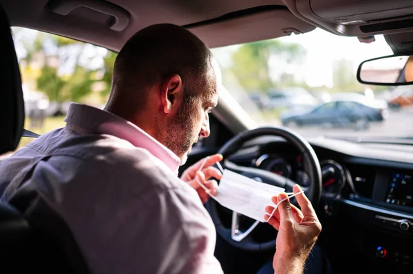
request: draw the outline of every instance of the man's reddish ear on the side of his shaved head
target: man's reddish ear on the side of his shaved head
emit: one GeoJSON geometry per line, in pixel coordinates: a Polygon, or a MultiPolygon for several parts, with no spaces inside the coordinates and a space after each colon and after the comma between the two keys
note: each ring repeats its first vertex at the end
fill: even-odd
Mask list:
{"type": "Polygon", "coordinates": [[[167,78],[160,90],[161,109],[164,113],[175,113],[184,98],[182,79],[177,74],[167,78]]]}

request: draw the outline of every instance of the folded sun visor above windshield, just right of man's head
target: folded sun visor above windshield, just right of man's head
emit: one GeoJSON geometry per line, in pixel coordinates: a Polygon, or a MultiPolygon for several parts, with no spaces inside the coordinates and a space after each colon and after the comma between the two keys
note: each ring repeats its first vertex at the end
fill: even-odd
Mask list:
{"type": "Polygon", "coordinates": [[[301,34],[315,27],[297,19],[287,9],[257,12],[235,18],[185,26],[208,47],[222,47],[301,34]]]}

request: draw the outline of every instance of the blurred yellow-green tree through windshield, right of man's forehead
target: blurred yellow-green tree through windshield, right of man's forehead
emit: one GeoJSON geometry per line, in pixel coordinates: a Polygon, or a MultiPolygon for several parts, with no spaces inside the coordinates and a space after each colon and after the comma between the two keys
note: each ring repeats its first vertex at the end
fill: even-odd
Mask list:
{"type": "MultiPolygon", "coordinates": [[[[230,69],[247,91],[268,91],[275,86],[268,64],[271,56],[277,56],[277,60],[290,64],[301,60],[305,54],[306,50],[294,43],[277,40],[246,43],[233,53],[230,69]]],[[[283,78],[291,82],[291,77],[284,75],[283,78]]]]}

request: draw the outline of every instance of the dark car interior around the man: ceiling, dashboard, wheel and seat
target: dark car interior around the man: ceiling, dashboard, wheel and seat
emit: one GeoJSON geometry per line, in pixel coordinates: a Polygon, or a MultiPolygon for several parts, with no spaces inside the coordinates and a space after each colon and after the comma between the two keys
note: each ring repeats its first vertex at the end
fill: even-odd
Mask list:
{"type": "MultiPolygon", "coordinates": [[[[113,52],[154,23],[180,25],[211,48],[291,34],[305,38],[318,28],[359,43],[383,35],[395,56],[413,52],[413,2],[405,0],[0,0],[0,5],[0,153],[16,150],[22,136],[35,136],[23,129],[21,73],[10,27],[59,34],[113,52]]],[[[405,126],[411,128],[411,121],[405,126]]],[[[283,126],[257,126],[226,90],[210,127],[210,137],[193,146],[180,173],[219,152],[224,168],[244,176],[288,192],[298,183],[316,209],[323,227],[317,244],[334,273],[413,271],[411,139],[397,139],[397,133],[390,139],[304,137],[283,126]]],[[[89,273],[64,220],[47,205],[30,212],[32,203],[35,197],[0,203],[1,267],[13,273],[89,273]]],[[[255,273],[273,256],[277,231],[270,225],[256,224],[212,199],[205,207],[217,230],[215,256],[224,273],[255,273]]]]}

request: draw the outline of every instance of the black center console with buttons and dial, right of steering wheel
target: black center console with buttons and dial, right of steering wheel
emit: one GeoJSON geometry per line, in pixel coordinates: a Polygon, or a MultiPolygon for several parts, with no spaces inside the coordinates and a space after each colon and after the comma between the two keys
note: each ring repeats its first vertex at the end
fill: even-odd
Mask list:
{"type": "Polygon", "coordinates": [[[358,165],[349,172],[357,194],[341,202],[370,231],[361,237],[364,254],[413,271],[413,170],[358,165]]]}

